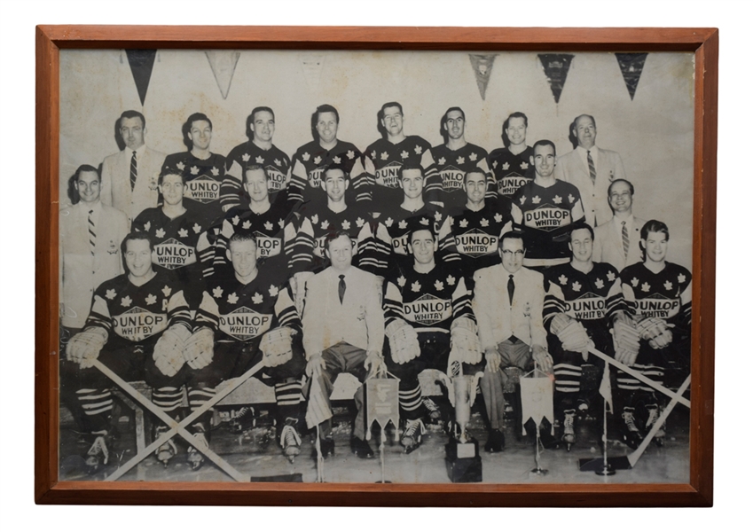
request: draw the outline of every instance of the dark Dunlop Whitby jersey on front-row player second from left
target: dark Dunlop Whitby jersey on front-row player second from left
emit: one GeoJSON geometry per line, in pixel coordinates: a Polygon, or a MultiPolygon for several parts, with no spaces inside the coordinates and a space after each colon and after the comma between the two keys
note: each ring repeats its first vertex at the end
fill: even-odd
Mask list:
{"type": "Polygon", "coordinates": [[[232,270],[227,271],[228,275],[209,281],[196,312],[195,328],[210,327],[218,342],[254,341],[277,327],[302,332],[286,275],[262,268],[244,285],[232,270]]]}

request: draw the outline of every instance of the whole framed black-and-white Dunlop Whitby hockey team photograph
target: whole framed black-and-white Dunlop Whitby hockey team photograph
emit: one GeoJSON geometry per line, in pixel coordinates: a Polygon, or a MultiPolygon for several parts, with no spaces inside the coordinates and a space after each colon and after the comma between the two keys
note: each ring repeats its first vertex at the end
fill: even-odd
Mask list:
{"type": "Polygon", "coordinates": [[[37,503],[712,504],[718,30],[36,61],[37,503]]]}

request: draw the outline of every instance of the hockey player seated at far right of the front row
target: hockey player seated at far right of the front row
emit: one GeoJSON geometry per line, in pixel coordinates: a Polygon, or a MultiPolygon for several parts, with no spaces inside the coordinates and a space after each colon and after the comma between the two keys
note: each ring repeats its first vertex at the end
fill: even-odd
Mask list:
{"type": "MultiPolygon", "coordinates": [[[[690,371],[691,274],[667,262],[669,239],[665,223],[649,220],[640,230],[644,261],[620,272],[625,305],[640,342],[634,348],[632,342],[618,341],[616,359],[660,384],[668,370],[675,369],[681,378],[690,371]]],[[[652,387],[624,372],[617,373],[617,388],[623,403],[623,441],[635,449],[659,418],[660,402],[652,387]]],[[[663,445],[663,438],[661,427],[655,444],[663,445]]]]}

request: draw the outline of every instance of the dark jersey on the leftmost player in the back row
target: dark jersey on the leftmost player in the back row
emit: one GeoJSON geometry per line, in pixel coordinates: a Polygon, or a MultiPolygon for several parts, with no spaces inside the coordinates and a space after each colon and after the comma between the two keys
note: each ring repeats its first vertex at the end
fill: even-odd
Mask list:
{"type": "Polygon", "coordinates": [[[183,205],[199,215],[203,225],[211,225],[223,215],[220,193],[224,156],[212,153],[208,159],[198,159],[191,152],[173,153],[165,158],[162,169],[165,168],[176,168],[185,176],[183,205]]]}

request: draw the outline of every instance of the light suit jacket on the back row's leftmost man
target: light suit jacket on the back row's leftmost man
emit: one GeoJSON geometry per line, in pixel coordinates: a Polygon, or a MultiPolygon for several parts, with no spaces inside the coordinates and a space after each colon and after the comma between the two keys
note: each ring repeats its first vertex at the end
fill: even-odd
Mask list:
{"type": "Polygon", "coordinates": [[[165,154],[147,147],[137,160],[136,184],[130,188],[131,150],[113,153],[102,162],[100,200],[122,210],[132,221],[145,208],[157,207],[157,179],[165,154]]]}

